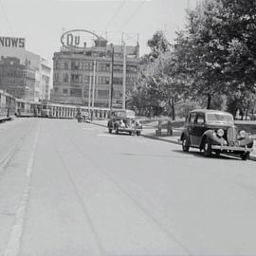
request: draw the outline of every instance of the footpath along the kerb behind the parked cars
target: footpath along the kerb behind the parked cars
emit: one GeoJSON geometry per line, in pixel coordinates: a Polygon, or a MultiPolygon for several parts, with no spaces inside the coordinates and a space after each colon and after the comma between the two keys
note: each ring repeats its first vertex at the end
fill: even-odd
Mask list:
{"type": "MultiPolygon", "coordinates": [[[[107,120],[93,120],[91,123],[102,126],[102,127],[107,127],[107,120]]],[[[148,127],[143,126],[143,130],[141,132],[142,137],[148,137],[151,139],[156,139],[164,142],[181,145],[181,141],[179,140],[180,134],[181,134],[180,129],[174,129],[173,136],[167,136],[166,134],[167,134],[167,131],[165,129],[163,130],[161,136],[155,136],[155,127],[150,127],[150,126],[148,127]]],[[[254,135],[253,151],[250,153],[249,159],[256,161],[256,136],[255,135],[254,135]]]]}

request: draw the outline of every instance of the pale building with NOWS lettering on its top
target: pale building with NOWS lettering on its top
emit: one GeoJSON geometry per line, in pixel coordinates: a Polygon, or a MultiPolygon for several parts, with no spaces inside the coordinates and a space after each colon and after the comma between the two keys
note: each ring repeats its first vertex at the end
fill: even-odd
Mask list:
{"type": "Polygon", "coordinates": [[[24,38],[0,36],[0,56],[18,58],[21,65],[27,66],[29,74],[33,73],[34,84],[27,85],[29,101],[49,100],[51,68],[40,55],[26,49],[24,38]]]}

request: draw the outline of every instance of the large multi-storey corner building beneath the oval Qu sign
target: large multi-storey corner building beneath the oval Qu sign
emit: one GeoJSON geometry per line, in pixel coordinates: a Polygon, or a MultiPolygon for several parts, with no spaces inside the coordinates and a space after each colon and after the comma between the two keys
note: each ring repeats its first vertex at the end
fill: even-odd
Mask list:
{"type": "MultiPolygon", "coordinates": [[[[70,39],[70,35],[67,34],[67,38],[70,39]]],[[[93,46],[86,46],[85,42],[83,46],[66,45],[54,53],[51,101],[109,108],[114,47],[112,106],[121,108],[123,91],[132,90],[137,83],[138,46],[107,45],[99,36],[93,46]]]]}

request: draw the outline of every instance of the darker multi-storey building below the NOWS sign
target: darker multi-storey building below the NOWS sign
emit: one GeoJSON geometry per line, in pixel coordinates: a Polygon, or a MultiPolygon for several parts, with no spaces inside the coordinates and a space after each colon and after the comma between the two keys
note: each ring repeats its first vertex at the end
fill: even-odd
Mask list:
{"type": "Polygon", "coordinates": [[[1,57],[0,89],[15,98],[34,101],[35,72],[28,64],[20,64],[14,57],[1,57]]]}

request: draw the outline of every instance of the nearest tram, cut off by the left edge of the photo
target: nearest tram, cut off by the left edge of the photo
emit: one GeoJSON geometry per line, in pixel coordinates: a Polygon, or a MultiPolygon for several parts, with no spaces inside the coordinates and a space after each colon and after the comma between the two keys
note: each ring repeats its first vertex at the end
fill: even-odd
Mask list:
{"type": "Polygon", "coordinates": [[[0,120],[12,119],[15,116],[16,99],[0,90],[0,120]]]}

